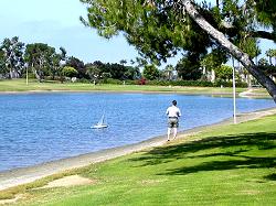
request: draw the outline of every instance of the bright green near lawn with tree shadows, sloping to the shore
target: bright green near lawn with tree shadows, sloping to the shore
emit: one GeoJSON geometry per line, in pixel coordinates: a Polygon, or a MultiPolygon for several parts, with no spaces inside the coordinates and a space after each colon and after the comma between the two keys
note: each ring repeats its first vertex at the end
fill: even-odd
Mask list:
{"type": "Polygon", "coordinates": [[[270,116],[209,128],[71,172],[94,180],[92,185],[18,189],[24,197],[18,204],[276,205],[275,124],[270,116]]]}

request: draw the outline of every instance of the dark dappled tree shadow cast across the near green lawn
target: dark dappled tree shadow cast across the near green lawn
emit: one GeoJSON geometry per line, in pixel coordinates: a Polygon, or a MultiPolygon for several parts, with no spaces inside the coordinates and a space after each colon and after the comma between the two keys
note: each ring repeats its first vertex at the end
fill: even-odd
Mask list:
{"type": "Polygon", "coordinates": [[[197,159],[197,161],[200,162],[198,165],[182,166],[159,173],[164,175],[185,175],[202,171],[222,171],[244,167],[274,167],[276,165],[276,158],[269,156],[268,151],[276,148],[275,140],[276,133],[265,132],[210,137],[199,141],[156,148],[140,158],[130,159],[130,161],[139,161],[141,163],[139,166],[163,164],[180,159],[197,159]],[[211,151],[212,149],[219,150],[211,151]],[[267,156],[258,156],[257,153],[264,150],[267,151],[267,156]],[[197,152],[200,154],[197,154],[197,152]],[[251,153],[248,154],[247,152],[251,153]]]}

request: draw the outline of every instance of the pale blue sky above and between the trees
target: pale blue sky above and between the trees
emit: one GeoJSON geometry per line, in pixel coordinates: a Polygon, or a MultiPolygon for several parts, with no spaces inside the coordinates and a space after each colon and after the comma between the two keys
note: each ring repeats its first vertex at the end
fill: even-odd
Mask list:
{"type": "MultiPolygon", "coordinates": [[[[19,36],[25,44],[46,43],[56,50],[63,46],[68,56],[84,63],[119,63],[121,59],[129,63],[138,56],[124,36],[106,40],[85,28],[79,17],[86,19],[86,6],[79,0],[0,0],[0,41],[19,36]]],[[[261,44],[263,52],[272,46],[275,47],[272,41],[261,44]]],[[[179,58],[180,55],[168,59],[167,64],[176,65],[179,58]]]]}

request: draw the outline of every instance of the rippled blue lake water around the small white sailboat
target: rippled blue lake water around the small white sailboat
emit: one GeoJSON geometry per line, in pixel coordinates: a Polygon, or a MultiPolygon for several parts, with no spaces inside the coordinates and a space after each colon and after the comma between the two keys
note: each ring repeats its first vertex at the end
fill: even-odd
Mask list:
{"type": "MultiPolygon", "coordinates": [[[[232,98],[160,94],[0,95],[0,171],[75,156],[166,134],[172,99],[182,111],[180,130],[233,113],[232,98]],[[93,130],[103,112],[109,127],[93,130]]],[[[237,112],[275,107],[269,99],[237,99],[237,112]]]]}

